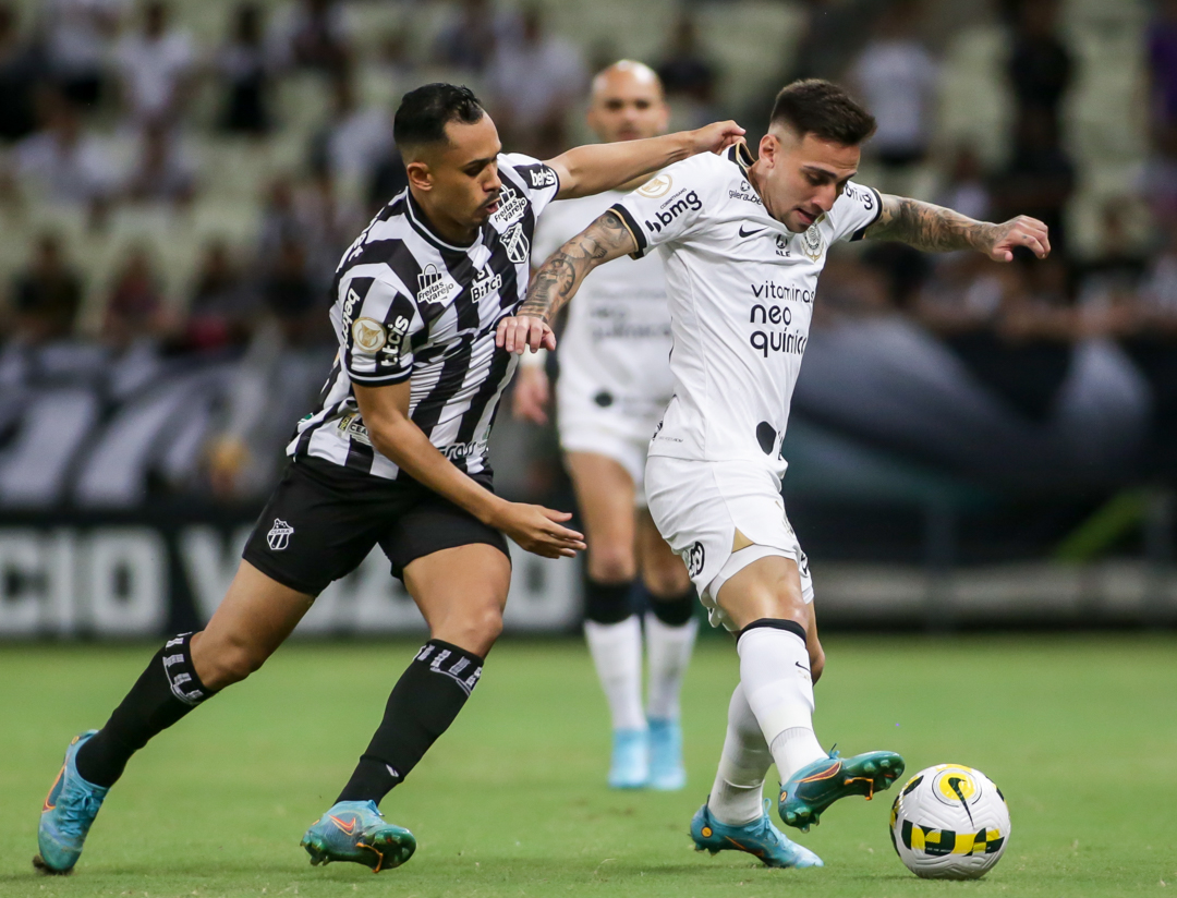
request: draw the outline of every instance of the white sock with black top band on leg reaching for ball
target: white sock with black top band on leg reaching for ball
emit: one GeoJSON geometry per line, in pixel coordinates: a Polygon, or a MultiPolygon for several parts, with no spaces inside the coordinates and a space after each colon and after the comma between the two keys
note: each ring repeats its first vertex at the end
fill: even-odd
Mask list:
{"type": "Polygon", "coordinates": [[[762,626],[744,631],[736,650],[740,685],[784,783],[826,757],[813,734],[813,681],[805,640],[787,630],[762,626]]]}

